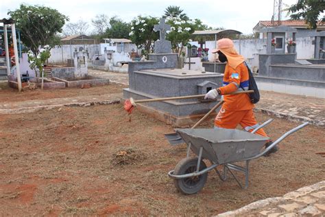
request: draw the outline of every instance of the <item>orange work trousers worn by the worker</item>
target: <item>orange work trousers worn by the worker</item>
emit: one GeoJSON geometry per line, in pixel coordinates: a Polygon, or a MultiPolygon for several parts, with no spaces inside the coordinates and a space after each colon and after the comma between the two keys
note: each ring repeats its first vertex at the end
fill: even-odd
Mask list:
{"type": "MultiPolygon", "coordinates": [[[[253,109],[242,111],[230,111],[221,107],[217,117],[215,117],[215,126],[220,128],[234,129],[240,124],[246,131],[252,132],[258,127],[254,117],[253,109]]],[[[263,128],[258,129],[256,134],[268,137],[263,128]]]]}

